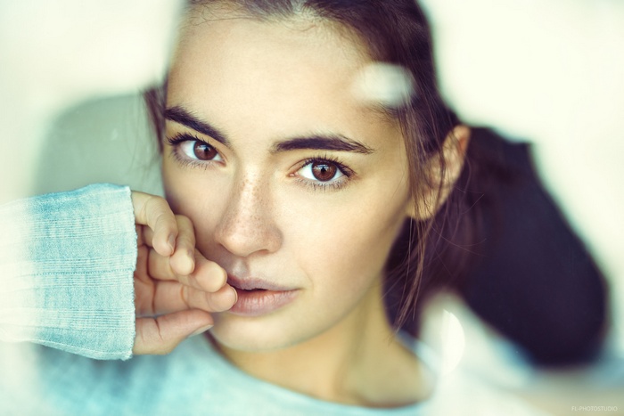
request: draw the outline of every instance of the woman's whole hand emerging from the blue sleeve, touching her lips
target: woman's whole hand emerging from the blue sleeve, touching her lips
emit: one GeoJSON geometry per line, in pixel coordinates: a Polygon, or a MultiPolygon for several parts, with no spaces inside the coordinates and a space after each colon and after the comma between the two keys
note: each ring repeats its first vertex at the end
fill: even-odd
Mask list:
{"type": "Polygon", "coordinates": [[[133,353],[168,354],[185,338],[208,330],[210,312],[226,311],[236,290],[226,271],[195,249],[193,224],[166,200],[132,192],[138,256],[133,353]]]}

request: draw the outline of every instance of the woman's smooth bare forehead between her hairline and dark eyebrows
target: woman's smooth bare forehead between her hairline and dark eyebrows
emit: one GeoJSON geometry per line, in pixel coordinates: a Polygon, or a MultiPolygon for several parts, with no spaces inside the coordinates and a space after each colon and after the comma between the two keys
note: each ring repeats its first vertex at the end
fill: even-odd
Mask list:
{"type": "Polygon", "coordinates": [[[211,18],[182,31],[169,106],[230,129],[273,128],[275,135],[381,122],[353,94],[358,70],[371,59],[347,30],[316,20],[211,18]]]}

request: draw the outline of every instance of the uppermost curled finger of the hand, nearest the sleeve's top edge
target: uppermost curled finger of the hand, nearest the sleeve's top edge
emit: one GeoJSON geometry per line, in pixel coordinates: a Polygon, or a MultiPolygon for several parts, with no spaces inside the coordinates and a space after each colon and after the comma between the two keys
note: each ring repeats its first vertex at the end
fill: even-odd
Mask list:
{"type": "Polygon", "coordinates": [[[170,256],[176,249],[177,221],[166,200],[144,192],[132,192],[135,223],[147,225],[153,237],[144,241],[162,256],[170,256]]]}

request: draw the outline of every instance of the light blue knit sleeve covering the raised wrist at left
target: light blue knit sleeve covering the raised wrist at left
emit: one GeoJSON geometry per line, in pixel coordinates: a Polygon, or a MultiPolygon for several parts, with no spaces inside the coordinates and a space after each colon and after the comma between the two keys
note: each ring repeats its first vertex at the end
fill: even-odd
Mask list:
{"type": "Polygon", "coordinates": [[[129,358],[135,265],[127,187],[95,184],[0,207],[0,339],[129,358]]]}

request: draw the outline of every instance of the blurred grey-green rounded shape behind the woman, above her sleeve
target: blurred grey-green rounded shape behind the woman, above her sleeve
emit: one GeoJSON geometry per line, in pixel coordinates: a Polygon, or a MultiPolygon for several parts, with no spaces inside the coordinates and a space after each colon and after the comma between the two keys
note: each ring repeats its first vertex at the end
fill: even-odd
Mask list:
{"type": "Polygon", "coordinates": [[[36,178],[36,194],[103,182],[162,194],[160,154],[141,94],[82,102],[55,118],[36,178]]]}

